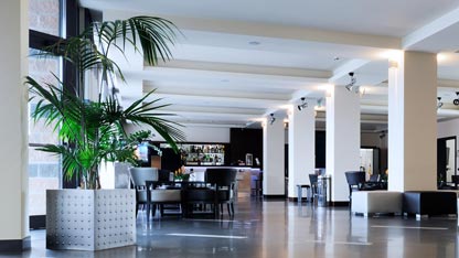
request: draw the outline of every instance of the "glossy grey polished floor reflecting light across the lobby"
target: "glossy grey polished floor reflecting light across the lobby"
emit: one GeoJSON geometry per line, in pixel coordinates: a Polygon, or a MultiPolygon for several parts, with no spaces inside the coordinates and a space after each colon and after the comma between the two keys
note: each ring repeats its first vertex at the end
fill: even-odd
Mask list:
{"type": "Polygon", "coordinates": [[[455,217],[365,218],[345,207],[249,197],[239,198],[234,219],[139,214],[137,229],[137,246],[96,252],[46,250],[44,230],[33,230],[31,251],[0,257],[459,257],[455,217]]]}

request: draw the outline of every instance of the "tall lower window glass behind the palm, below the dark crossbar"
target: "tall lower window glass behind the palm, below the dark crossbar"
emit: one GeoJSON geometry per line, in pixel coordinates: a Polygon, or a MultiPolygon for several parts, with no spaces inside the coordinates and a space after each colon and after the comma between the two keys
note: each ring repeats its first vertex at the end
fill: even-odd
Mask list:
{"type": "MultiPolygon", "coordinates": [[[[61,58],[43,58],[33,55],[30,50],[29,75],[40,83],[53,83],[61,76],[61,58]]],[[[32,97],[32,96],[30,96],[32,97]]],[[[29,103],[29,110],[36,107],[38,98],[29,103]]],[[[57,143],[57,131],[53,126],[45,126],[44,121],[34,122],[29,119],[29,213],[44,215],[46,212],[46,189],[60,187],[60,157],[35,150],[46,143],[57,143]]]]}

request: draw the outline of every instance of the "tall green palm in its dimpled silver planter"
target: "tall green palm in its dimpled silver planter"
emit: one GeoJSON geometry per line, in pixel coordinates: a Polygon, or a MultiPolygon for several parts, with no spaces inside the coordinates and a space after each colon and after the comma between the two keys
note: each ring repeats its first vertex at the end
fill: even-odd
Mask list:
{"type": "Polygon", "coordinates": [[[128,135],[126,122],[150,127],[172,148],[184,140],[180,125],[167,120],[158,109],[153,92],[128,107],[121,107],[116,95],[103,90],[115,87],[114,76],[124,80],[121,68],[110,58],[113,51],[125,53],[131,45],[150,65],[171,56],[169,44],[175,39],[170,21],[152,17],[135,17],[124,21],[94,23],[81,35],[58,42],[43,55],[57,54],[78,71],[78,88],[58,79],[56,84],[39,83],[26,77],[36,108],[35,120],[58,131],[61,144],[47,144],[39,150],[62,157],[66,180],[77,179],[82,190],[49,190],[46,192],[46,247],[53,249],[98,250],[136,243],[136,197],[132,190],[99,190],[99,165],[104,161],[135,162],[136,141],[149,132],[128,135]],[[85,73],[98,74],[99,95],[86,99],[85,73]]]}

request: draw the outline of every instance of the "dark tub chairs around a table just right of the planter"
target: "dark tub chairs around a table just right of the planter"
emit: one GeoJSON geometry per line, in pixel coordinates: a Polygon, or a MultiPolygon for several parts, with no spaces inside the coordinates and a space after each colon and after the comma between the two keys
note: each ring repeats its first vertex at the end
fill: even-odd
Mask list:
{"type": "Polygon", "coordinates": [[[164,208],[170,206],[179,211],[173,213],[178,216],[212,215],[216,218],[223,215],[223,206],[226,205],[228,216],[234,216],[237,174],[235,169],[206,169],[204,181],[174,181],[173,173],[156,168],[129,170],[137,193],[136,214],[142,207],[147,221],[150,219],[150,215],[156,217],[158,209],[163,217],[164,208]]]}

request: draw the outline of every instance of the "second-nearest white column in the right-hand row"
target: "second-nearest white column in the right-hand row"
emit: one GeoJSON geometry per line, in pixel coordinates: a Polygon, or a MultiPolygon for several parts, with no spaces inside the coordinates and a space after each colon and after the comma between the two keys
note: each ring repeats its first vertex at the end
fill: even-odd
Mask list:
{"type": "Polygon", "coordinates": [[[327,174],[331,201],[349,202],[344,172],[360,164],[360,98],[343,86],[332,86],[327,97],[327,174]]]}

